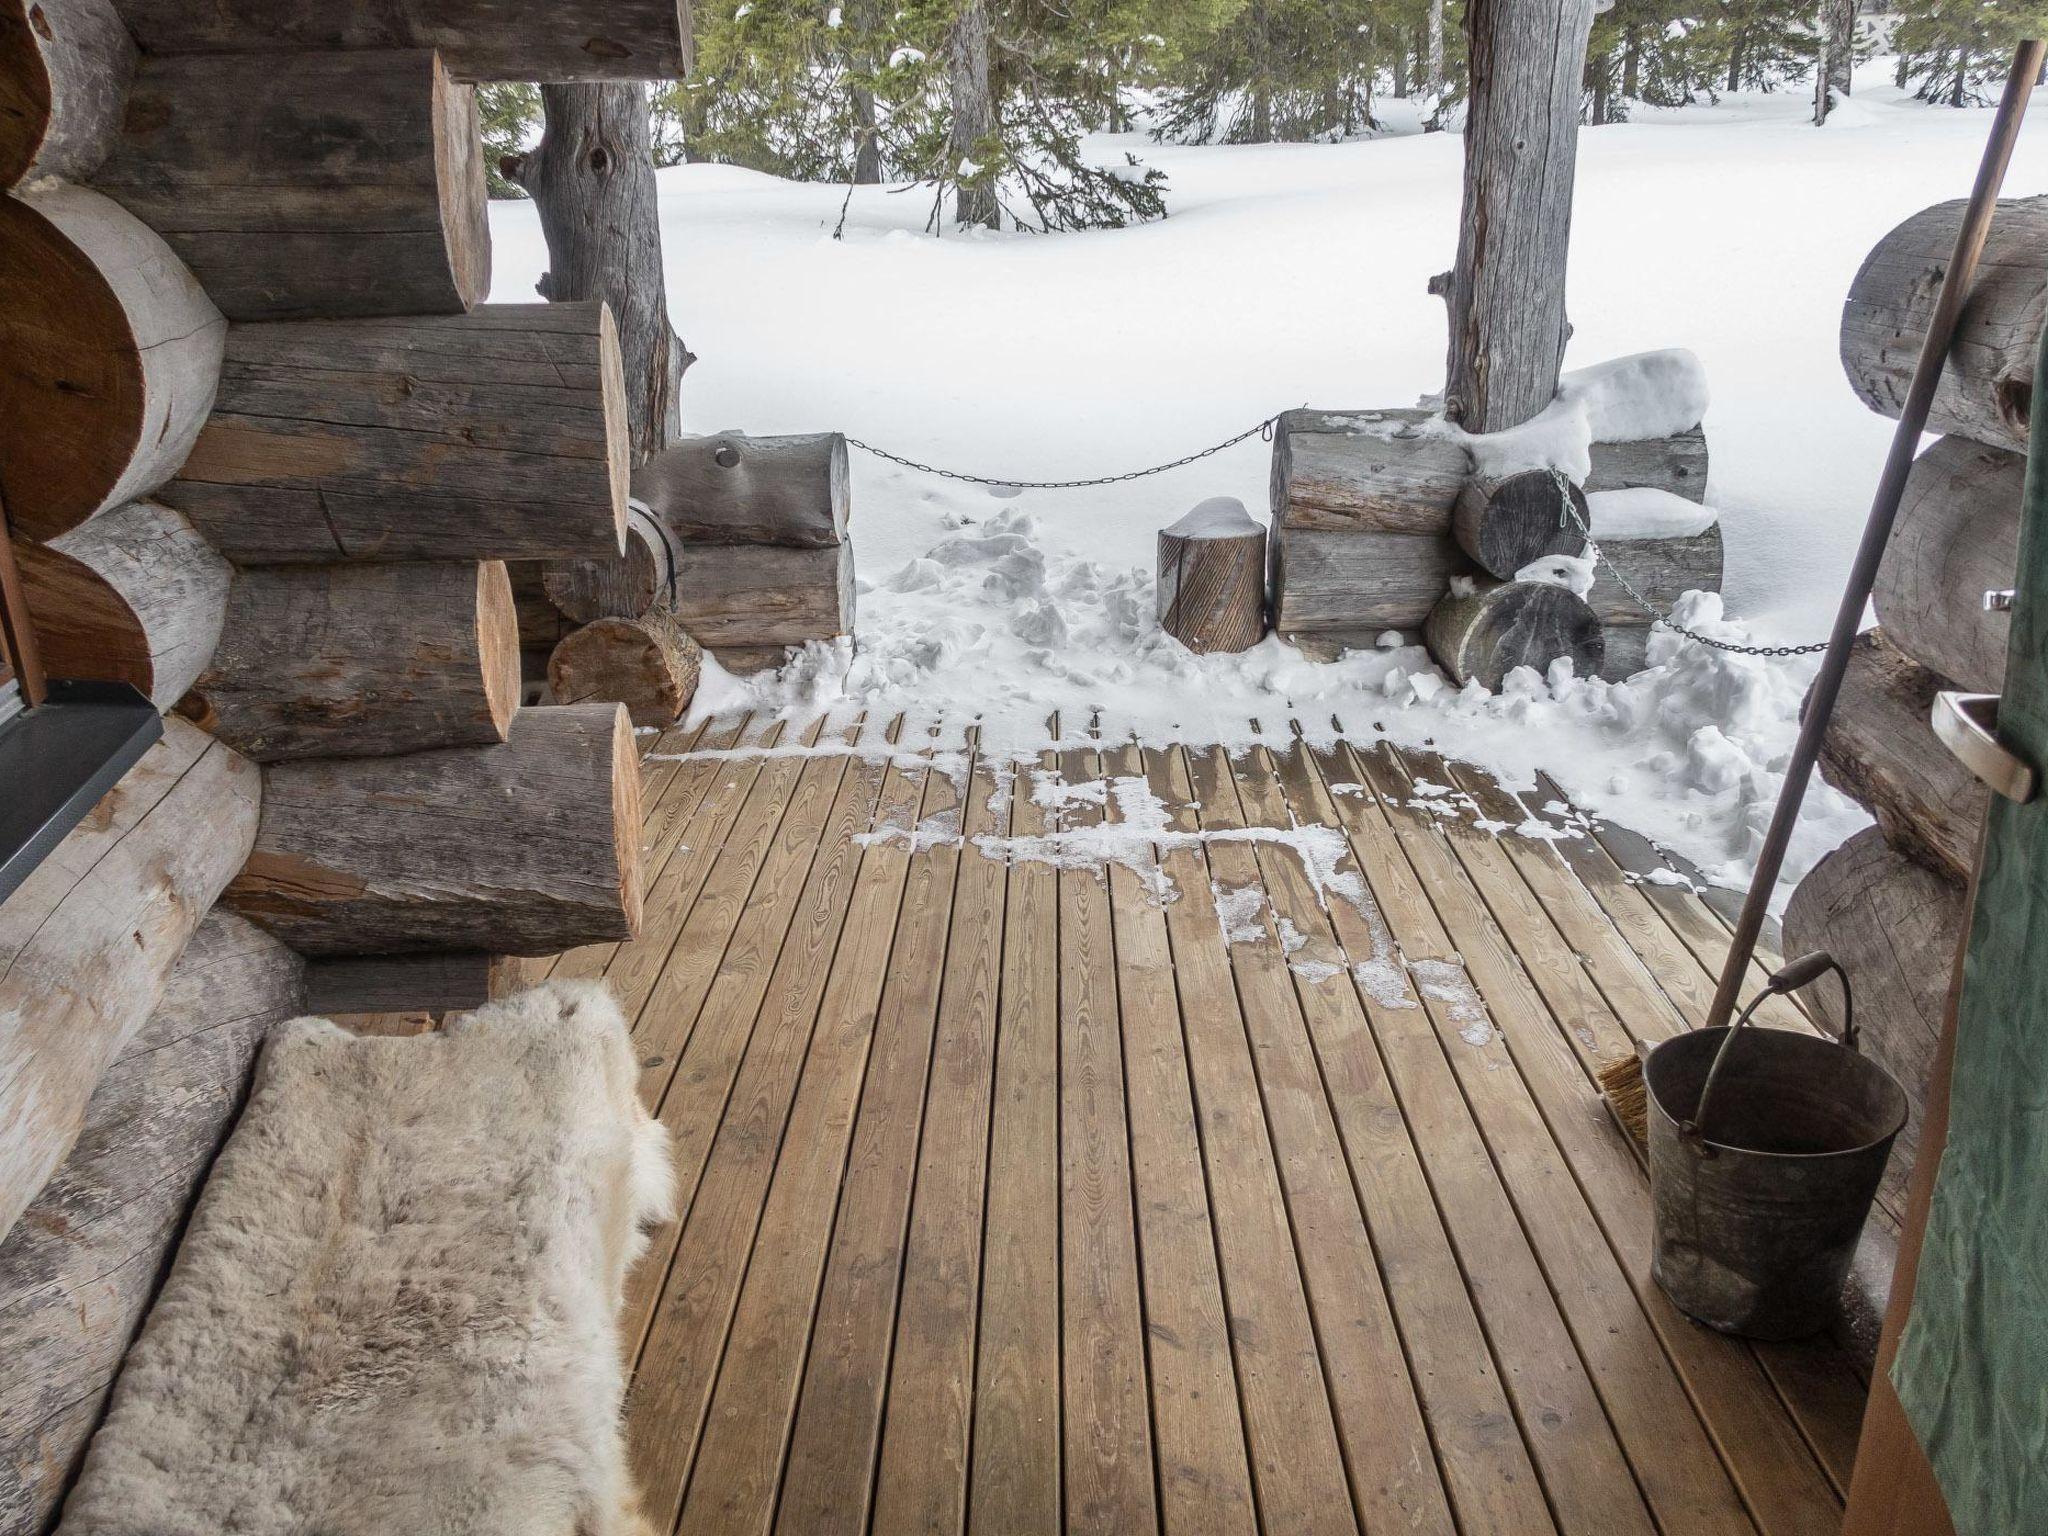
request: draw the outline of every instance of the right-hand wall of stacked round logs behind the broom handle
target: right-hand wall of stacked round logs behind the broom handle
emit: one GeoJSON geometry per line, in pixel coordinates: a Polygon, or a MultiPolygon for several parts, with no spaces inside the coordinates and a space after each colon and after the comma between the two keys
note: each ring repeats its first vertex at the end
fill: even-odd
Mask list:
{"type": "MultiPolygon", "coordinates": [[[[1915,213],[1870,252],[1841,313],[1849,383],[1898,416],[1962,203],[1915,213]]],[[[1960,342],[1933,397],[1872,602],[1878,629],[1855,643],[1821,774],[1878,825],[1800,881],[1786,907],[1786,952],[1825,948],[1849,971],[1868,1051],[1919,1102],[1962,938],[1964,885],[1989,791],[1935,739],[1939,690],[1995,694],[2005,682],[2007,616],[1985,592],[2013,586],[2025,489],[2034,348],[2048,305],[2048,199],[2007,201],[1991,225],[1960,342]]],[[[1831,1028],[1839,993],[1819,987],[1831,1028]]],[[[1892,1159],[1903,1180],[1911,1155],[1892,1159]]]]}

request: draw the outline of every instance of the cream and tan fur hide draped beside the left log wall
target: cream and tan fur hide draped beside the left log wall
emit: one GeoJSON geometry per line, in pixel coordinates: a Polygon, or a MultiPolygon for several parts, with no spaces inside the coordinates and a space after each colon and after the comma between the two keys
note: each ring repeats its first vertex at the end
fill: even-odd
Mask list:
{"type": "Polygon", "coordinates": [[[618,1311],[674,1206],[616,1004],[264,1047],[61,1532],[641,1536],[618,1311]]]}

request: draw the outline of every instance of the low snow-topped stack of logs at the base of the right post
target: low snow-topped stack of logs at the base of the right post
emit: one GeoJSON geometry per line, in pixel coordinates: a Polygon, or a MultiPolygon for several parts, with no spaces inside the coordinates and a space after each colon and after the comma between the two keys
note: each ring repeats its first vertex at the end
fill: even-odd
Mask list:
{"type": "MultiPolygon", "coordinates": [[[[1536,594],[1516,582],[1546,555],[1577,555],[1548,473],[1483,479],[1458,442],[1425,430],[1421,410],[1292,410],[1274,432],[1274,627],[1315,655],[1370,647],[1382,633],[1432,633],[1458,680],[1495,686],[1516,666],[1569,655],[1581,676],[1642,666],[1651,614],[1599,571],[1591,592],[1536,594]],[[1458,580],[1464,578],[1464,580],[1458,580]],[[1456,580],[1456,592],[1452,584],[1456,580]],[[1432,612],[1452,596],[1432,627],[1432,612]]],[[[1608,557],[1659,608],[1688,590],[1720,590],[1720,526],[1704,512],[1706,434],[1595,442],[1591,473],[1571,485],[1608,557]],[[1649,489],[1702,506],[1681,537],[1638,537],[1608,492],[1649,489]]]]}

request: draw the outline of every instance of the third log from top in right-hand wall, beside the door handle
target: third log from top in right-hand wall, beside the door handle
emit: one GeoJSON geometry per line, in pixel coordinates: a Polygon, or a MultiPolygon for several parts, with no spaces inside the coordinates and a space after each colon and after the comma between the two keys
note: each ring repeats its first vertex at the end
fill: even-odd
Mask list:
{"type": "Polygon", "coordinates": [[[1821,741],[1821,776],[1862,801],[1896,850],[1962,885],[1991,791],[1935,739],[1929,711],[1948,686],[1882,631],[1858,635],[1821,741]]]}

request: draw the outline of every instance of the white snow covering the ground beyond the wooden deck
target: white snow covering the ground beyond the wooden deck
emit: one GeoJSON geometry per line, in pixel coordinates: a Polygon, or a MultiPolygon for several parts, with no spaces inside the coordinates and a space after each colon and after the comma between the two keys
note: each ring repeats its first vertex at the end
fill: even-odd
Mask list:
{"type": "MultiPolygon", "coordinates": [[[[1579,137],[1567,367],[1681,346],[1706,365],[1710,500],[1726,532],[1724,635],[1821,639],[1888,442],[1841,377],[1835,328],[1870,246],[1968,193],[1987,111],[1901,96],[1874,61],[1825,129],[1808,92],[1737,96],[1579,137]]],[[[840,430],[1016,479],[1114,473],[1290,406],[1413,403],[1444,377],[1460,145],[1167,147],[1169,217],[1071,236],[924,233],[930,195],[727,166],[662,172],[676,328],[698,354],[690,430],[840,430]]],[[[2048,190],[2030,125],[2009,197],[2048,190]]],[[[492,205],[492,297],[526,299],[545,248],[530,205],[492,205]]],[[[1268,444],[1090,492],[995,496],[854,453],[858,647],[780,678],[707,684],[717,705],[866,707],[1036,752],[1059,711],[1110,735],[1245,741],[1251,719],[1434,741],[1526,784],[1550,770],[1612,815],[1741,885],[1778,793],[1808,664],[1675,637],[1626,684],[1511,680],[1458,694],[1419,649],[1317,666],[1266,641],[1188,655],[1153,623],[1153,535],[1208,496],[1266,510],[1268,444]]],[[[1714,602],[1700,604],[1702,616],[1714,602]]],[[[1786,877],[1864,825],[1825,786],[1786,877]]],[[[1790,885],[1782,891],[1788,893],[1790,885]]]]}

